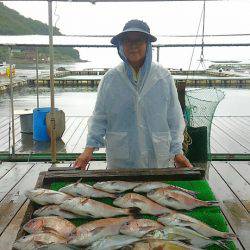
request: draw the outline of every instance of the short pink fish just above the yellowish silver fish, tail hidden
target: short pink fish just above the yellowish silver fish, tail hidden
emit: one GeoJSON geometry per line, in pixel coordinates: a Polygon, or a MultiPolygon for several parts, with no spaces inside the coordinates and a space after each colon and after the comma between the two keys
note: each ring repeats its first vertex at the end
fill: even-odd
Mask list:
{"type": "Polygon", "coordinates": [[[143,235],[152,230],[163,228],[164,226],[157,221],[149,219],[136,219],[124,223],[120,228],[120,233],[141,238],[143,235]]]}

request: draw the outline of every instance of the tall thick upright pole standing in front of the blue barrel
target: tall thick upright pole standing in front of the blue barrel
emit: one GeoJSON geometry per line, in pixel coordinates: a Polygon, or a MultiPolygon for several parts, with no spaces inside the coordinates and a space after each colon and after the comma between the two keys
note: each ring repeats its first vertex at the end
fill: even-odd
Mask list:
{"type": "Polygon", "coordinates": [[[48,1],[49,14],[49,63],[50,63],[50,106],[51,106],[51,159],[56,162],[56,123],[55,123],[55,97],[54,97],[54,51],[53,51],[53,23],[52,23],[52,1],[48,1]]]}

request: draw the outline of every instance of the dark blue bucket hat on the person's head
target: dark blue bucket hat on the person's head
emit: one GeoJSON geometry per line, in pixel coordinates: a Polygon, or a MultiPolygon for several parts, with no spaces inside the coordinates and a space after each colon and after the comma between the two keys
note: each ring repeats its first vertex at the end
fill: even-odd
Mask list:
{"type": "Polygon", "coordinates": [[[130,20],[123,27],[123,31],[111,39],[111,43],[117,46],[122,37],[128,32],[141,32],[146,35],[148,41],[155,42],[157,38],[150,34],[148,25],[141,20],[130,20]]]}

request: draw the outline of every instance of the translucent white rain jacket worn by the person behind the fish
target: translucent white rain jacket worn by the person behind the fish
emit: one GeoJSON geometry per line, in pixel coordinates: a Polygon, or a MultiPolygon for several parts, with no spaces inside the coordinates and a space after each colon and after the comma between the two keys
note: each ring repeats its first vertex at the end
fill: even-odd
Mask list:
{"type": "Polygon", "coordinates": [[[138,91],[126,72],[122,63],[102,78],[86,147],[106,146],[108,168],[168,167],[185,128],[173,78],[151,63],[138,91]]]}

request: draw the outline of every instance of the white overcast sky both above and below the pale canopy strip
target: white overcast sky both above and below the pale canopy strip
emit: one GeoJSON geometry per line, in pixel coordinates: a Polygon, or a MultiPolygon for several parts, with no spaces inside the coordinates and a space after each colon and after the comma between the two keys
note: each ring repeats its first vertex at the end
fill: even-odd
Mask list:
{"type": "MultiPolygon", "coordinates": [[[[48,23],[46,1],[3,1],[20,14],[48,23]]],[[[63,34],[117,34],[130,19],[148,23],[154,35],[185,35],[197,33],[203,1],[133,2],[133,3],[76,3],[53,2],[53,23],[63,34]]],[[[207,1],[205,34],[250,34],[250,0],[207,1]]],[[[201,29],[199,31],[201,34],[201,29]]],[[[225,38],[226,42],[226,38],[225,38]]],[[[249,42],[249,41],[246,41],[249,42]]],[[[250,48],[205,48],[205,57],[214,60],[250,58],[250,48]]],[[[95,50],[96,51],[96,50],[95,50]]],[[[95,52],[80,49],[82,59],[119,61],[111,49],[95,52]],[[102,51],[102,52],[101,52],[102,51]],[[111,51],[111,52],[110,52],[111,51]],[[99,53],[99,54],[98,54],[99,53]],[[113,56],[113,57],[112,57],[113,56]],[[104,60],[103,59],[103,60],[104,60]]],[[[192,48],[162,49],[160,59],[173,67],[187,67],[192,48]],[[165,53],[165,54],[164,54],[165,53]],[[171,64],[172,63],[172,64],[171,64]]],[[[194,60],[199,59],[200,48],[194,60]]]]}

